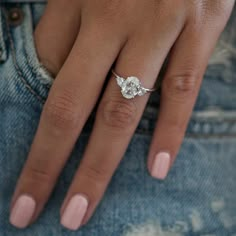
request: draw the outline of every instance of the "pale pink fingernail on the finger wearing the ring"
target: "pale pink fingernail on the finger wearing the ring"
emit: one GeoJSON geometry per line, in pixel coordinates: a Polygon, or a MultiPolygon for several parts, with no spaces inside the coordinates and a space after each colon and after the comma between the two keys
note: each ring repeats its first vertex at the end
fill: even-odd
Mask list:
{"type": "Polygon", "coordinates": [[[88,208],[88,200],[78,194],[71,198],[61,218],[61,224],[70,229],[77,230],[82,223],[88,208]]]}

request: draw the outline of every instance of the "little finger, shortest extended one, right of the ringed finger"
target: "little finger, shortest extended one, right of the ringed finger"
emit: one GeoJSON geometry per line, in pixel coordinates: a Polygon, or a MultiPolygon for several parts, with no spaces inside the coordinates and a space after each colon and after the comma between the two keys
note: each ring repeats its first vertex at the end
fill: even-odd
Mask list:
{"type": "Polygon", "coordinates": [[[148,155],[148,169],[155,178],[165,179],[176,158],[219,33],[215,30],[209,36],[209,29],[189,25],[171,52],[148,155]]]}

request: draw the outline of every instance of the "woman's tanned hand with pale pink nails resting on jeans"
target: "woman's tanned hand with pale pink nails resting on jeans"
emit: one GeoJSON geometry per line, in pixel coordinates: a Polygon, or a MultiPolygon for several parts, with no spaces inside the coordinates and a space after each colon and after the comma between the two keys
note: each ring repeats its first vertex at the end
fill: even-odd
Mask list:
{"type": "MultiPolygon", "coordinates": [[[[170,52],[148,155],[164,179],[183,140],[208,59],[234,0],[50,0],[35,32],[39,58],[56,76],[12,199],[10,221],[34,222],[94,108],[109,70],[153,87],[170,52]]],[[[83,160],[61,208],[72,230],[93,214],[143,113],[148,94],[122,97],[109,78],[83,160]]]]}

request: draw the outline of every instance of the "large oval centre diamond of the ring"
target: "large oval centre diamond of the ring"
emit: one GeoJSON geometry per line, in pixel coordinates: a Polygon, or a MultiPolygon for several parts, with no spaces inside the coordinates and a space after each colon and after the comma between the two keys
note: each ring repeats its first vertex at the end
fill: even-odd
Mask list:
{"type": "Polygon", "coordinates": [[[121,84],[121,93],[127,99],[131,99],[134,98],[136,95],[139,95],[140,89],[140,81],[137,77],[134,76],[128,77],[121,84]]]}

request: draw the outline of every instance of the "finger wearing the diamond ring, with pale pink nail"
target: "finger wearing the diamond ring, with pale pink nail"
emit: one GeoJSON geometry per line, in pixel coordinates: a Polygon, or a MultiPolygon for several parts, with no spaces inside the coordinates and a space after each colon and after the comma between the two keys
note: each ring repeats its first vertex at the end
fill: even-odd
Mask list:
{"type": "MultiPolygon", "coordinates": [[[[151,34],[145,34],[148,38],[131,38],[115,70],[124,77],[139,76],[145,86],[152,87],[179,30],[161,39],[159,36],[159,41],[151,34]]],[[[110,78],[83,160],[61,208],[61,224],[65,227],[76,230],[91,217],[124,155],[147,99],[148,94],[131,100],[123,98],[115,78],[110,78]]]]}

